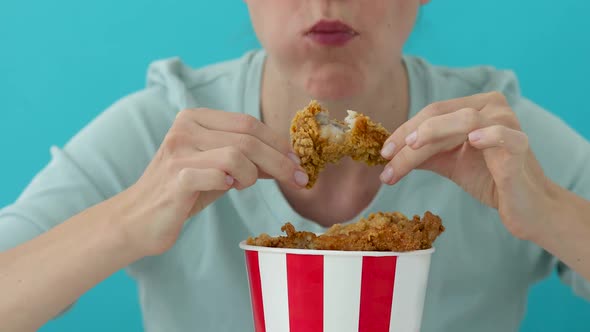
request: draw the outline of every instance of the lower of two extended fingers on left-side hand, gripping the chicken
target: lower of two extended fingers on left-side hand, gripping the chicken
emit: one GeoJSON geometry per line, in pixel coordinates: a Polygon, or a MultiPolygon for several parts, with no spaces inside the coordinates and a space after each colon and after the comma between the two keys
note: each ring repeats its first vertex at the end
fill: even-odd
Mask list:
{"type": "Polygon", "coordinates": [[[282,154],[254,136],[206,130],[197,144],[204,151],[224,146],[236,147],[258,167],[261,178],[274,178],[299,187],[304,187],[309,181],[297,156],[282,154]]]}

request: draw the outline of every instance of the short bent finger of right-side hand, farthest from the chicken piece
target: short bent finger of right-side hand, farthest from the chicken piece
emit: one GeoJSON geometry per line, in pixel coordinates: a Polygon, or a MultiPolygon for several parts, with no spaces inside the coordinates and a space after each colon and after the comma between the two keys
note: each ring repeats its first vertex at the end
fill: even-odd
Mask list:
{"type": "Polygon", "coordinates": [[[469,144],[480,150],[502,148],[512,154],[522,154],[529,149],[528,136],[524,132],[502,125],[472,131],[469,144]]]}

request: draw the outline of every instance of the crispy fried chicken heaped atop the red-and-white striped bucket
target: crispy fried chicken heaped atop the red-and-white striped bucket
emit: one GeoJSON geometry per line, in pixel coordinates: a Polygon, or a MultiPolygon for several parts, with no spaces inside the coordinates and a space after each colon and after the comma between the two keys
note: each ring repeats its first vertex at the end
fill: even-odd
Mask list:
{"type": "Polygon", "coordinates": [[[261,234],[248,238],[247,243],[274,248],[405,252],[431,248],[445,227],[440,217],[430,212],[411,220],[399,212],[378,212],[350,225],[336,224],[319,236],[298,232],[291,223],[281,230],[287,235],[261,234]]]}

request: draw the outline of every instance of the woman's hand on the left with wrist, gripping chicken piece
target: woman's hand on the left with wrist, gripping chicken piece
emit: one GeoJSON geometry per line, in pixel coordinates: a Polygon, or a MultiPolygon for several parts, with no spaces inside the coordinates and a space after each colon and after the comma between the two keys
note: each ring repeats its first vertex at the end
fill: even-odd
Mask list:
{"type": "Polygon", "coordinates": [[[184,110],[144,174],[115,198],[126,241],[146,256],[161,254],[189,217],[231,188],[259,178],[305,187],[307,174],[298,164],[288,141],[252,116],[184,110]]]}

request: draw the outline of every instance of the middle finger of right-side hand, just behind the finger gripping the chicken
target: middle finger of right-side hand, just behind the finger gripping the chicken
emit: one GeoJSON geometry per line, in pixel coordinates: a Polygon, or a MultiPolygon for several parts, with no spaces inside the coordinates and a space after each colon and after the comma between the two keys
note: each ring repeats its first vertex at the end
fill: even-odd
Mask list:
{"type": "Polygon", "coordinates": [[[459,143],[462,143],[467,140],[470,132],[484,127],[485,122],[485,118],[476,109],[462,108],[456,112],[426,119],[406,137],[405,143],[412,149],[450,138],[457,138],[459,143]]]}

